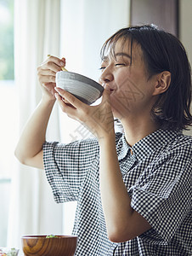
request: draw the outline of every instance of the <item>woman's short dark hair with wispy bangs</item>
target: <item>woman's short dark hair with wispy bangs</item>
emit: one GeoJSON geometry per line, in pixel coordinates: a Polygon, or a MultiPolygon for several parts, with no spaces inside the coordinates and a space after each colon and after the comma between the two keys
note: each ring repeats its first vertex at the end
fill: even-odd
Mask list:
{"type": "Polygon", "coordinates": [[[116,42],[122,38],[131,44],[137,42],[143,51],[149,78],[157,73],[169,71],[171,84],[162,93],[151,110],[152,117],[162,129],[188,130],[192,124],[190,114],[191,69],[183,44],[169,32],[154,25],[122,28],[111,36],[101,49],[101,58],[110,49],[114,53],[116,42]]]}

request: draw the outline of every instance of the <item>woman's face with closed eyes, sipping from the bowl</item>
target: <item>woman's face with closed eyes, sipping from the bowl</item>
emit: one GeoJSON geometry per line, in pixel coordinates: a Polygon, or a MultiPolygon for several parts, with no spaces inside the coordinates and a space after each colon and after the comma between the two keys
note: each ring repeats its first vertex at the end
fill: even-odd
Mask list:
{"type": "Polygon", "coordinates": [[[150,113],[155,77],[149,79],[140,45],[133,42],[131,52],[130,42],[122,42],[122,39],[117,41],[115,55],[110,53],[104,57],[99,83],[110,87],[110,102],[116,118],[136,118],[150,113]]]}

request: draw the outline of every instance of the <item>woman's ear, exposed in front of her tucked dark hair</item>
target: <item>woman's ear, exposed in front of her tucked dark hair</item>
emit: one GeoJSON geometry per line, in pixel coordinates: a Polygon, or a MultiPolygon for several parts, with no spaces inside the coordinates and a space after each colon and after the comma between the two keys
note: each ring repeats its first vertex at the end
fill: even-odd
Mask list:
{"type": "Polygon", "coordinates": [[[172,75],[169,71],[163,71],[157,74],[153,96],[159,95],[169,88],[172,79],[171,77],[172,75]]]}

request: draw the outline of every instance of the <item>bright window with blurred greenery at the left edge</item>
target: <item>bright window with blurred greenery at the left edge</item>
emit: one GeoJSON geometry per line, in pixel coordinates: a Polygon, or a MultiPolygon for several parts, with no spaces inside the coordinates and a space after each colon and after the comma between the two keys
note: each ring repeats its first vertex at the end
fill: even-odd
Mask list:
{"type": "Polygon", "coordinates": [[[6,246],[14,148],[18,138],[18,101],[14,86],[14,0],[0,0],[0,247],[6,246]]]}

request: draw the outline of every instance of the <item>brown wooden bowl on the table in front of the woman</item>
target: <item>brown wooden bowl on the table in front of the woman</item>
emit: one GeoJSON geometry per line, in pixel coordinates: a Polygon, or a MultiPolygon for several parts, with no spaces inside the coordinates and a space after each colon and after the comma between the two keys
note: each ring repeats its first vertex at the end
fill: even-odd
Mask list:
{"type": "Polygon", "coordinates": [[[25,256],[72,256],[76,252],[77,236],[22,236],[25,256]]]}

